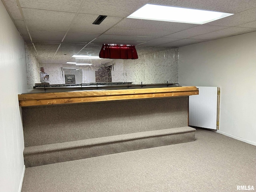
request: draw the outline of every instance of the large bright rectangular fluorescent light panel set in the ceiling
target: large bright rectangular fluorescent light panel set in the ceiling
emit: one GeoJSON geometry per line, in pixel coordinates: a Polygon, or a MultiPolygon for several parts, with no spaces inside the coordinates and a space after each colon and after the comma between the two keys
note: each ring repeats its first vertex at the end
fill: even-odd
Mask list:
{"type": "Polygon", "coordinates": [[[233,14],[146,4],[127,18],[205,24],[233,14]]]}

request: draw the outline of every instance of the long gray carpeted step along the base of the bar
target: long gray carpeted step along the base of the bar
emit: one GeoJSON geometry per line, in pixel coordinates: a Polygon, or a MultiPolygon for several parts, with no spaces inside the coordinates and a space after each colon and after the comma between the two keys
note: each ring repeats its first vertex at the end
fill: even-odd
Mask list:
{"type": "Polygon", "coordinates": [[[195,131],[191,127],[180,127],[30,146],[24,149],[24,162],[26,167],[32,167],[190,142],[195,140],[195,131]]]}

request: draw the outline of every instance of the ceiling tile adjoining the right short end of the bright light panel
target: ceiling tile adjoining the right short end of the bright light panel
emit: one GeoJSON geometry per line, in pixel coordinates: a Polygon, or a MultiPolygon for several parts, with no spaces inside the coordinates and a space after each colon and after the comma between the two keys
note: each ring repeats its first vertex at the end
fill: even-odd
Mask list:
{"type": "MultiPolygon", "coordinates": [[[[255,1],[256,2],[256,1],[255,1]]],[[[248,22],[256,21],[256,8],[246,10],[216,21],[207,23],[208,25],[237,26],[248,22]]]]}

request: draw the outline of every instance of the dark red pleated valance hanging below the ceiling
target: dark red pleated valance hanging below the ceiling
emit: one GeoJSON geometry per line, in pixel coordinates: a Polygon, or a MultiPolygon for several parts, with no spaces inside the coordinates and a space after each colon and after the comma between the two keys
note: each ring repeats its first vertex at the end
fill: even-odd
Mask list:
{"type": "Polygon", "coordinates": [[[134,45],[104,44],[100,50],[100,58],[109,59],[138,59],[134,45]]]}

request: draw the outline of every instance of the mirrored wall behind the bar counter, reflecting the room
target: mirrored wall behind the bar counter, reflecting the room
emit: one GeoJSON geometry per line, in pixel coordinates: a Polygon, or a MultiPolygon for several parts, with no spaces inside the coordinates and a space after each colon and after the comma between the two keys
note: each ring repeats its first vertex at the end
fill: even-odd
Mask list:
{"type": "Polygon", "coordinates": [[[133,84],[178,83],[178,48],[136,46],[138,59],[74,58],[98,56],[101,45],[79,43],[27,44],[28,86],[38,80],[40,67],[50,74],[50,84],[65,84],[65,75],[74,75],[76,84],[132,82],[133,84]],[[36,49],[35,49],[36,48],[36,49]]]}

